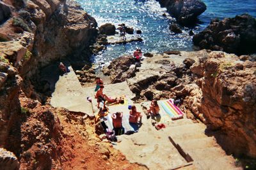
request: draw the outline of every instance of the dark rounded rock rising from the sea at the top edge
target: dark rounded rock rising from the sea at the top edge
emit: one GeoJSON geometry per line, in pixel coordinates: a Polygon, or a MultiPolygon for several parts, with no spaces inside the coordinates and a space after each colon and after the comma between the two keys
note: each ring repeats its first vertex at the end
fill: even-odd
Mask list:
{"type": "Polygon", "coordinates": [[[195,24],[196,17],[206,10],[206,5],[200,0],[157,0],[167,8],[179,24],[195,24]]]}

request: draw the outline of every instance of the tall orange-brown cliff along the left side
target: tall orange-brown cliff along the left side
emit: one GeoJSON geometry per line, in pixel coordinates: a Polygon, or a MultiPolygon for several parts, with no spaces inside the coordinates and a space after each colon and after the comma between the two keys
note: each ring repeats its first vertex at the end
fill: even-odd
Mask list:
{"type": "Polygon", "coordinates": [[[65,161],[58,147],[65,138],[60,120],[39,102],[31,81],[40,81],[42,67],[67,55],[74,62],[85,59],[97,22],[73,1],[63,3],[0,2],[0,148],[15,153],[20,169],[60,169],[65,161]]]}

